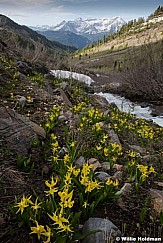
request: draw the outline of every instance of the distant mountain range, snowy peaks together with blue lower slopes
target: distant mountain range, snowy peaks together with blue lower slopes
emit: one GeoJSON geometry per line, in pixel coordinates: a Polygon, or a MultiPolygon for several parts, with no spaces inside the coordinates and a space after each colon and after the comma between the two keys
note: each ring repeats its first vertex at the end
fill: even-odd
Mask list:
{"type": "Polygon", "coordinates": [[[30,28],[50,40],[57,40],[62,44],[80,49],[102,39],[104,35],[116,32],[124,24],[126,22],[121,17],[86,20],[77,18],[74,21],[62,21],[56,26],[38,25],[30,26],[30,28]]]}

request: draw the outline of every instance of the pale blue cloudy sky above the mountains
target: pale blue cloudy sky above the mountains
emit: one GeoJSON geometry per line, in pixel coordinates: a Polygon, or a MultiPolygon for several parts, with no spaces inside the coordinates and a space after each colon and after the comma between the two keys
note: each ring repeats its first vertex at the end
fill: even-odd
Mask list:
{"type": "Polygon", "coordinates": [[[0,14],[27,26],[57,25],[76,18],[147,18],[163,0],[0,0],[0,14]]]}

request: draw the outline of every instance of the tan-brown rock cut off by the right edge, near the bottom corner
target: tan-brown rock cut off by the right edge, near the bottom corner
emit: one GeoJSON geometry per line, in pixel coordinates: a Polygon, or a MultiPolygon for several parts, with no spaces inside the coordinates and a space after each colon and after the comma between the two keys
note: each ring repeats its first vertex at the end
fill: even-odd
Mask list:
{"type": "Polygon", "coordinates": [[[163,211],[163,191],[150,189],[151,204],[157,215],[163,211]]]}

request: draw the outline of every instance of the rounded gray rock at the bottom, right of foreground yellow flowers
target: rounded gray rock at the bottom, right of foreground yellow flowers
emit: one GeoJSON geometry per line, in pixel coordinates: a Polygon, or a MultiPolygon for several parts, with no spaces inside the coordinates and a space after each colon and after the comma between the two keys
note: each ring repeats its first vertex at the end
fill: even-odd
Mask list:
{"type": "Polygon", "coordinates": [[[111,243],[115,242],[116,237],[121,236],[121,232],[117,226],[108,219],[89,218],[83,226],[83,233],[85,234],[93,230],[99,230],[99,232],[85,237],[83,243],[111,243]]]}

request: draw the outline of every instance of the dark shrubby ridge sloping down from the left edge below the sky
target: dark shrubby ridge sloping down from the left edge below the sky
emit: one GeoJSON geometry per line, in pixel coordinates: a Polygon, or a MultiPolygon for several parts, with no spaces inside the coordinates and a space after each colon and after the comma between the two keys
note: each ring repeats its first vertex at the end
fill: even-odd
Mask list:
{"type": "Polygon", "coordinates": [[[67,55],[75,48],[50,41],[25,25],[19,25],[5,15],[0,14],[0,38],[13,50],[17,50],[30,61],[51,62],[59,54],[67,55]]]}

